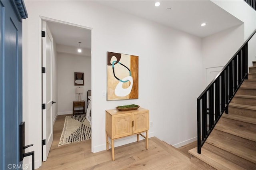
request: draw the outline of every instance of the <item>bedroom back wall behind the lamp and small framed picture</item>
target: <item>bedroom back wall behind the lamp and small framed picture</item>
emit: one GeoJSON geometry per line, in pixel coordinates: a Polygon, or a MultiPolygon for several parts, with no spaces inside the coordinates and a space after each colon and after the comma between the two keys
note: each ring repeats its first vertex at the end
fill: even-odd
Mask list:
{"type": "Polygon", "coordinates": [[[78,100],[76,87],[83,87],[81,100],[87,106],[87,91],[91,89],[91,58],[58,53],[58,115],[73,113],[73,101],[78,100]],[[84,86],[74,85],[74,72],[84,73],[84,86]]]}

